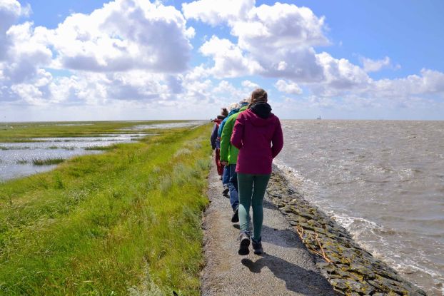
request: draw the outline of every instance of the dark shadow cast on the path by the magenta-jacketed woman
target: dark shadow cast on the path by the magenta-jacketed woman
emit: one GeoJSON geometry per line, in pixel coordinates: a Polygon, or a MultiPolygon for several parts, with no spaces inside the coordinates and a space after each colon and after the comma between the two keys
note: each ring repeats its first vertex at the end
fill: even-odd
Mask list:
{"type": "Polygon", "coordinates": [[[261,273],[263,267],[268,267],[273,275],[284,280],[287,289],[293,292],[313,296],[337,295],[322,275],[303,269],[279,257],[264,253],[263,257],[256,260],[256,262],[246,258],[242,259],[241,262],[254,273],[261,273]]]}

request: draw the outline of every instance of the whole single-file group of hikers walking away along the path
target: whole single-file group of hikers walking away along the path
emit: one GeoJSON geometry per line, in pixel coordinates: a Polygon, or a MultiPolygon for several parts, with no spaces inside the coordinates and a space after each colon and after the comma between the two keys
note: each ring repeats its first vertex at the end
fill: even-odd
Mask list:
{"type": "Polygon", "coordinates": [[[239,255],[263,253],[263,196],[271,175],[271,163],[283,147],[279,118],[271,113],[268,95],[257,88],[251,97],[222,108],[214,121],[211,146],[223,183],[223,195],[230,198],[232,223],[239,223],[239,255]],[[250,232],[250,208],[253,235],[250,232]]]}

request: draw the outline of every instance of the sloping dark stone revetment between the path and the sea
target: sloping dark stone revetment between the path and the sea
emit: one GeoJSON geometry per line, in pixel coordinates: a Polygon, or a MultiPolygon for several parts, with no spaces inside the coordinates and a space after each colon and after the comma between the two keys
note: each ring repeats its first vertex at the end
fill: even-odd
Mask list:
{"type": "Polygon", "coordinates": [[[385,262],[363,250],[348,231],[293,188],[285,173],[273,168],[267,193],[293,230],[317,258],[323,275],[342,295],[426,295],[385,262]]]}

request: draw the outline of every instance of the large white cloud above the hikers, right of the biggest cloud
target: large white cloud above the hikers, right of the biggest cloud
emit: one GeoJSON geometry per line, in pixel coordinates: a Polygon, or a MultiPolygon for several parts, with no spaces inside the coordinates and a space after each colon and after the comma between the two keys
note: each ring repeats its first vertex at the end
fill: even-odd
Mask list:
{"type": "MultiPolygon", "coordinates": [[[[206,4],[210,2],[216,5],[221,1],[205,0],[206,4]]],[[[196,5],[201,3],[193,2],[196,5]]],[[[217,13],[211,7],[206,14],[217,13]]],[[[206,21],[205,18],[200,19],[206,21]]],[[[318,64],[312,46],[326,45],[328,39],[323,35],[323,17],[318,18],[310,9],[281,3],[253,6],[248,14],[238,19],[222,18],[220,21],[226,21],[238,42],[232,44],[227,41],[230,42],[229,51],[228,46],[221,46],[217,49],[218,54],[212,55],[213,70],[218,77],[258,74],[306,82],[323,79],[323,68],[318,64]],[[233,68],[236,70],[233,71],[233,68]]],[[[213,36],[212,39],[216,38],[213,36]]]]}

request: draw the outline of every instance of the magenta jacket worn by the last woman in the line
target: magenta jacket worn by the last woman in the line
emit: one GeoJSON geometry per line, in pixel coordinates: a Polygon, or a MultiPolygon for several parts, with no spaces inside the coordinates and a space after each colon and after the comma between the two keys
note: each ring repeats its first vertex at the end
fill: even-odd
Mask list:
{"type": "Polygon", "coordinates": [[[268,104],[262,105],[269,109],[265,115],[252,106],[241,113],[234,124],[231,143],[239,149],[237,173],[270,174],[273,158],[283,147],[281,122],[270,112],[268,104]]]}

